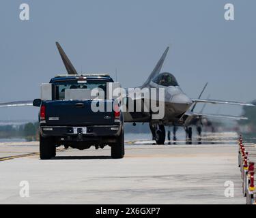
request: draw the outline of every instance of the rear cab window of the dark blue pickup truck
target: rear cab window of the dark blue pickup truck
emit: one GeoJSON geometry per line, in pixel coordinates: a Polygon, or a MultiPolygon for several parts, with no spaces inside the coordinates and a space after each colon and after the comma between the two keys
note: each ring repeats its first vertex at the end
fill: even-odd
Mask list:
{"type": "Polygon", "coordinates": [[[63,81],[55,82],[56,86],[56,100],[63,100],[65,98],[66,89],[83,89],[91,90],[95,88],[100,88],[104,91],[106,95],[106,81],[104,80],[73,80],[73,81],[63,81]]]}

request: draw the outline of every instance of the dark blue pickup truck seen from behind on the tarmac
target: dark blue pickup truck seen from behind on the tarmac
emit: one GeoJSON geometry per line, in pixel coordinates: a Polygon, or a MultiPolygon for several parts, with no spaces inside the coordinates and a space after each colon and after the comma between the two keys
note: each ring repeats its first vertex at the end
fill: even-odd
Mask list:
{"type": "MultiPolygon", "coordinates": [[[[106,93],[106,84],[111,82],[113,79],[108,74],[63,75],[51,79],[51,99],[41,97],[33,101],[33,106],[40,107],[40,159],[55,157],[56,147],[61,145],[81,150],[90,146],[103,149],[109,145],[111,157],[124,157],[122,111],[113,106],[111,111],[94,112],[93,99],[83,94],[98,88],[106,93]],[[74,93],[80,96],[74,97],[74,93]]],[[[115,102],[106,95],[101,101],[104,106],[115,102]]]]}

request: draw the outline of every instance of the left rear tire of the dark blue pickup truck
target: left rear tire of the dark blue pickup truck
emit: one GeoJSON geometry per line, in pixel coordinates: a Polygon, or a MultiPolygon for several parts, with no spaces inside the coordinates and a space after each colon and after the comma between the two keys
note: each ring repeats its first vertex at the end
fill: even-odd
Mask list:
{"type": "Polygon", "coordinates": [[[51,159],[56,156],[56,146],[51,137],[44,138],[40,135],[40,159],[51,159]]]}

